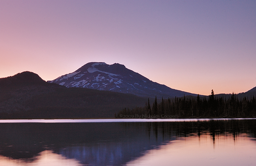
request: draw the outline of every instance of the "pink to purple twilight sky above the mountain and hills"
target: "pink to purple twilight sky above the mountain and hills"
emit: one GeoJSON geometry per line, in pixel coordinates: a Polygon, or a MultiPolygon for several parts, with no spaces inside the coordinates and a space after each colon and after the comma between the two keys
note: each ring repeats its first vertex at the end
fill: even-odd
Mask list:
{"type": "Polygon", "coordinates": [[[120,63],[196,94],[256,86],[255,0],[0,0],[0,78],[120,63]]]}

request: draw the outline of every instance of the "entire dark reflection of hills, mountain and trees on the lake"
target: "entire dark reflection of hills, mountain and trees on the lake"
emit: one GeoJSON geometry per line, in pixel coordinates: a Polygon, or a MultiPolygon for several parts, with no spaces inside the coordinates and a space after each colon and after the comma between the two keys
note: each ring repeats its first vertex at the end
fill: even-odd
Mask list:
{"type": "Polygon", "coordinates": [[[256,120],[154,123],[9,123],[0,124],[0,155],[36,160],[52,150],[89,165],[122,165],[172,140],[242,133],[256,138],[256,120]]]}

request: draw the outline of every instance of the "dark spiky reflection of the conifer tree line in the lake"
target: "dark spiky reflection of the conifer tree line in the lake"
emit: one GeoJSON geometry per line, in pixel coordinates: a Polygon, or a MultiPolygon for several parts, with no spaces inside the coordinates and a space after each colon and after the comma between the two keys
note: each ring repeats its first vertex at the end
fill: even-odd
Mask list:
{"type": "Polygon", "coordinates": [[[234,141],[240,134],[247,134],[256,138],[256,120],[209,120],[209,121],[184,121],[184,122],[134,122],[120,123],[125,131],[146,131],[148,139],[164,142],[173,139],[182,139],[189,136],[210,135],[212,142],[218,136],[232,135],[234,141]],[[144,130],[145,128],[145,130],[144,130]],[[159,140],[161,138],[161,140],[159,140]]]}

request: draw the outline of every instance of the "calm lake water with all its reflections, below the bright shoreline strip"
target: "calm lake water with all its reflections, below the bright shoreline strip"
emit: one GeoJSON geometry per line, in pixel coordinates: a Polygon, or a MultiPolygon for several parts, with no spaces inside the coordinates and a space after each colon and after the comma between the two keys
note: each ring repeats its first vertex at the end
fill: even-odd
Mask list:
{"type": "Polygon", "coordinates": [[[0,166],[256,165],[256,120],[0,123],[0,166]]]}

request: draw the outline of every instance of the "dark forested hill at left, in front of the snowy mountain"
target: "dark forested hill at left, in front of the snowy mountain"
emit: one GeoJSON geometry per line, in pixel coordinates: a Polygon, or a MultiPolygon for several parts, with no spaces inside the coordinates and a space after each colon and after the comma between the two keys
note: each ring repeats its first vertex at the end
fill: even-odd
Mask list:
{"type": "MultiPolygon", "coordinates": [[[[150,99],[153,101],[153,99],[150,99]]],[[[114,117],[124,107],[143,107],[147,98],[87,88],[66,88],[32,72],[0,78],[0,118],[114,117]]]]}

